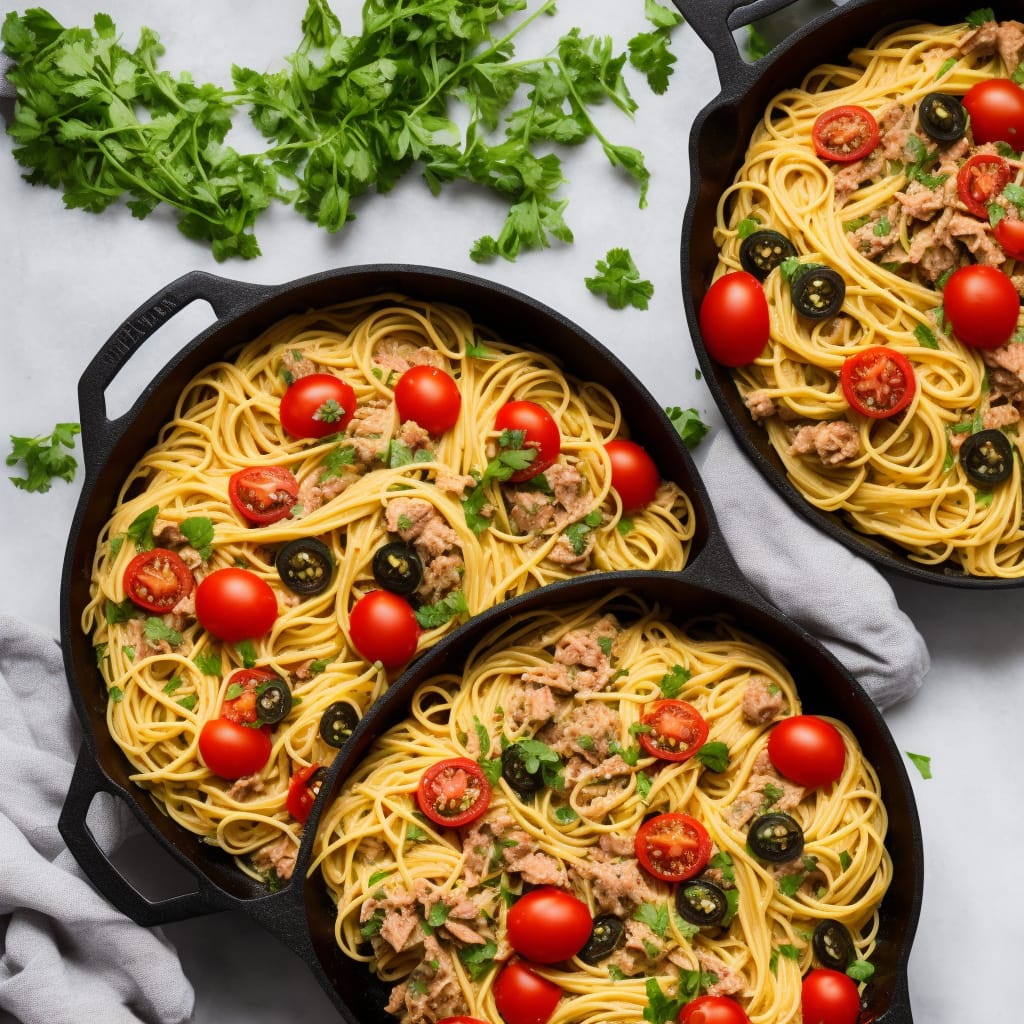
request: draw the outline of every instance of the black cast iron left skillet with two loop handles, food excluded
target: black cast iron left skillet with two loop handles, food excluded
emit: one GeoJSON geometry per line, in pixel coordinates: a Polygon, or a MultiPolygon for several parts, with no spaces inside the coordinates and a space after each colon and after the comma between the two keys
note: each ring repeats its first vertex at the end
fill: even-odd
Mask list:
{"type": "MultiPolygon", "coordinates": [[[[315,274],[278,286],[243,284],[208,273],[185,274],[150,298],[115,331],[79,382],[82,446],[86,477],[72,523],[61,582],[61,640],[65,667],[85,742],[60,828],[69,847],[93,881],[134,920],[156,925],[240,903],[276,926],[281,893],[243,872],[219,849],[160,813],[150,797],[129,781],[130,767],[105,723],[106,690],[95,665],[91,640],[79,623],[89,601],[89,578],[96,538],[131,468],[172,418],[185,384],[210,364],[229,358],[285,316],[346,299],[398,292],[466,309],[506,341],[554,355],[567,373],[597,381],[616,395],[631,433],[694,506],[691,560],[710,557],[722,542],[710,500],[689,453],[664,411],[638,378],[595,338],[547,306],[526,296],[454,271],[417,266],[357,266],[315,274]],[[143,343],[196,300],[210,303],[216,322],[184,345],[157,374],[132,408],[108,418],[104,392],[143,343]],[[86,823],[93,798],[106,793],[121,799],[158,842],[195,878],[196,889],[150,900],[125,880],[96,845],[86,823]]],[[[301,862],[297,877],[301,874],[301,862]]],[[[287,889],[286,889],[287,891],[287,889]]]]}

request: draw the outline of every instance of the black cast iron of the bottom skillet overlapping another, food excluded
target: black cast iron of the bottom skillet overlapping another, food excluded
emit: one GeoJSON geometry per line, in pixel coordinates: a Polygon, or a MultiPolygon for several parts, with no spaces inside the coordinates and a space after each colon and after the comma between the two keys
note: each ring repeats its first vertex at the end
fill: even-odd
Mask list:
{"type": "MultiPolygon", "coordinates": [[[[428,651],[392,686],[359,723],[339,753],[321,793],[327,806],[340,792],[347,775],[359,763],[371,742],[408,713],[409,697],[423,681],[438,673],[458,673],[473,646],[512,614],[607,598],[622,588],[656,604],[680,624],[691,618],[724,615],[778,652],[793,673],[804,710],[830,715],[851,726],[866,759],[878,771],[889,814],[887,849],[893,861],[893,880],[880,911],[879,945],[871,956],[876,973],[865,989],[861,1021],[876,1024],[912,1024],[906,969],[921,908],[923,852],[913,793],[882,716],[860,685],[807,633],[759,598],[730,570],[725,561],[702,562],[682,573],[623,572],[552,584],[506,602],[476,616],[428,651]],[[709,574],[708,569],[711,569],[709,574]]],[[[611,605],[610,607],[613,607],[611,605]]],[[[306,880],[305,906],[309,937],[315,951],[315,971],[350,1024],[394,1024],[385,1013],[389,986],[364,964],[342,955],[335,941],[335,909],[318,873],[306,880]],[[357,993],[357,994],[351,994],[357,993]]]]}

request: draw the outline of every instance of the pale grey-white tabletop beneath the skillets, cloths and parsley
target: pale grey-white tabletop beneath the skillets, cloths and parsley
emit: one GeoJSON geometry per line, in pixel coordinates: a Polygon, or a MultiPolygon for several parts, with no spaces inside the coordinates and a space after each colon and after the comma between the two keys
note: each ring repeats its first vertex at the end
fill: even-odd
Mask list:
{"type": "MultiPolygon", "coordinates": [[[[84,0],[52,0],[65,24],[88,24],[84,0]]],[[[108,0],[126,41],[148,25],[167,46],[162,67],[188,69],[197,80],[228,84],[232,61],[276,66],[298,39],[303,0],[108,0]]],[[[532,6],[532,5],[531,5],[532,6]]],[[[358,5],[337,2],[348,32],[358,5]]],[[[520,42],[540,52],[548,39],[580,24],[610,34],[620,46],[646,25],[640,0],[562,0],[520,42]]],[[[388,197],[370,197],[358,219],[328,237],[281,208],[258,227],[264,255],[216,264],[167,221],[139,223],[123,210],[91,216],[62,208],[59,196],[31,188],[0,137],[0,440],[48,433],[78,419],[77,383],[98,346],[162,286],[200,268],[240,280],[280,283],[341,265],[412,262],[479,273],[560,309],[617,352],[663,404],[693,406],[717,429],[721,420],[696,379],[679,290],[680,226],[688,188],[687,141],[695,113],[718,90],[710,54],[692,32],[675,37],[678,71],[665,96],[631,77],[640,110],[630,122],[601,113],[610,137],[646,155],[650,205],[638,209],[632,183],[595,146],[567,155],[567,219],[575,243],[483,267],[468,258],[471,242],[497,232],[502,212],[464,189],[433,199],[416,176],[388,197]],[[612,311],[583,279],[611,246],[631,249],[654,283],[646,312],[612,311]]],[[[239,140],[242,145],[241,139],[239,140]]],[[[109,392],[113,407],[137,393],[167,354],[206,326],[190,307],[132,360],[109,392]]],[[[699,454],[698,454],[699,456],[699,454]]],[[[698,458],[699,461],[699,458],[698,458]]],[[[29,495],[0,481],[0,611],[51,629],[59,620],[59,573],[76,484],[29,495]]],[[[893,580],[902,607],[930,645],[933,665],[922,691],[886,718],[901,751],[932,758],[934,778],[911,769],[925,837],[923,914],[910,959],[914,1017],[927,1024],[1005,1019],[1008,971],[1024,946],[1019,908],[1024,849],[1017,779],[1024,715],[1024,653],[1016,630],[1024,591],[966,592],[893,580]],[[1001,1012],[1001,1013],[1000,1013],[1001,1012]]],[[[275,939],[237,914],[167,929],[197,990],[197,1024],[262,1024],[337,1019],[305,967],[275,939]]]]}

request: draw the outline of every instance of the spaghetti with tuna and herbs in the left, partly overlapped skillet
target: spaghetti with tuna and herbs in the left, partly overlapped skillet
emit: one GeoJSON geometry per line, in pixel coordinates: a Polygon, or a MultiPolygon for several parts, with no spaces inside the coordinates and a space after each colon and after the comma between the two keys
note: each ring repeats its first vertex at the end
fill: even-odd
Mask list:
{"type": "MultiPolygon", "coordinates": [[[[422,558],[422,583],[409,597],[418,650],[467,615],[551,581],[685,564],[694,517],[677,484],[663,482],[645,509],[622,514],[603,445],[625,433],[605,388],[501,340],[461,309],[399,295],[291,316],[209,367],[127,474],[98,538],[82,615],[109,686],[109,728],[133,780],[248,872],[288,878],[317,782],[312,769],[333,759],[345,735],[339,723],[357,720],[389,683],[349,629],[352,607],[381,586],[373,562],[383,545],[404,544],[422,558]],[[416,365],[442,368],[458,385],[461,413],[442,433],[399,421],[394,386],[416,365]],[[280,422],[281,399],[314,373],[351,386],[354,416],[328,436],[293,437],[280,422]],[[520,461],[532,454],[522,436],[506,444],[492,429],[513,398],[543,407],[561,435],[557,462],[522,483],[488,476],[509,451],[520,461]],[[236,474],[254,468],[270,482],[260,489],[257,481],[240,504],[236,474]],[[289,478],[294,493],[281,482],[289,478]],[[254,523],[254,510],[269,512],[254,523]],[[310,538],[330,553],[330,582],[299,594],[283,582],[278,556],[310,538]],[[146,552],[134,579],[133,559],[146,552]],[[185,582],[173,597],[181,600],[165,608],[166,570],[179,562],[185,582]],[[239,567],[269,588],[276,615],[265,634],[223,642],[197,617],[198,597],[218,570],[239,567]],[[272,724],[256,710],[268,680],[286,684],[275,699],[291,698],[272,724]],[[322,728],[329,712],[334,733],[322,728]],[[212,722],[220,736],[208,732],[211,744],[236,744],[220,752],[225,777],[201,756],[212,722]],[[257,733],[267,737],[265,764],[243,771],[257,733]]],[[[221,599],[228,615],[234,605],[221,599]]]]}

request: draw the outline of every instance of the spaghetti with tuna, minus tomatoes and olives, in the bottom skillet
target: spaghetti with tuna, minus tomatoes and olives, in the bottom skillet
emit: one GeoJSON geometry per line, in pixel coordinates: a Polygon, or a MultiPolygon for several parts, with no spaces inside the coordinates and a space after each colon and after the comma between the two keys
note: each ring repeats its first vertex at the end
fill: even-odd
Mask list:
{"type": "Polygon", "coordinates": [[[773,727],[800,710],[777,656],[725,617],[679,625],[625,591],[518,615],[423,682],[325,809],[313,869],[337,903],[341,950],[395,986],[388,1010],[407,1024],[496,1021],[509,906],[552,885],[625,926],[614,951],[530,966],[561,991],[552,1021],[639,1024],[652,985],[679,1002],[731,995],[757,1024],[799,1021],[816,926],[839,923],[868,961],[892,873],[879,781],[845,725],[834,723],[845,749],[834,782],[805,790],[772,767],[773,727]],[[638,741],[669,694],[707,721],[701,755],[666,760],[638,741]],[[522,743],[549,770],[536,794],[503,756],[522,743]],[[452,757],[489,765],[494,781],[482,817],[458,829],[416,800],[424,772],[452,757]],[[752,819],[769,810],[799,823],[796,858],[751,853],[752,819]],[[710,836],[700,879],[729,909],[709,927],[680,914],[685,883],[640,866],[638,829],[663,812],[710,836]]]}

